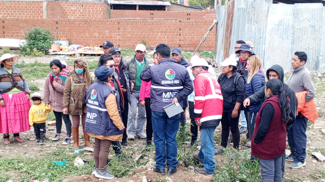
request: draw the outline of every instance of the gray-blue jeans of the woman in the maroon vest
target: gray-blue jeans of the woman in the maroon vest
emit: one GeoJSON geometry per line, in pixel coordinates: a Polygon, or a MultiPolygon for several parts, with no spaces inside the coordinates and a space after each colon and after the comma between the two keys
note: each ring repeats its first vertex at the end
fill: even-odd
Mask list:
{"type": "Polygon", "coordinates": [[[258,159],[262,182],[282,182],[282,155],[275,159],[258,159]]]}

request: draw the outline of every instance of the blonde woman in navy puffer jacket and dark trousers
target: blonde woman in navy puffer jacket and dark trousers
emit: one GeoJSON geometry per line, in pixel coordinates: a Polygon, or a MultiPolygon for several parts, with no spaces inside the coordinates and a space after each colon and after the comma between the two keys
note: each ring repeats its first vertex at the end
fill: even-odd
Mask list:
{"type": "MultiPolygon", "coordinates": [[[[248,58],[247,61],[247,83],[245,84],[245,94],[246,97],[253,95],[255,92],[259,91],[265,85],[265,70],[261,58],[257,55],[253,55],[248,58]]],[[[251,140],[253,137],[254,127],[255,127],[255,118],[257,112],[262,107],[264,100],[256,104],[251,104],[249,106],[248,112],[248,131],[249,138],[247,139],[246,146],[251,147],[251,140]]]]}

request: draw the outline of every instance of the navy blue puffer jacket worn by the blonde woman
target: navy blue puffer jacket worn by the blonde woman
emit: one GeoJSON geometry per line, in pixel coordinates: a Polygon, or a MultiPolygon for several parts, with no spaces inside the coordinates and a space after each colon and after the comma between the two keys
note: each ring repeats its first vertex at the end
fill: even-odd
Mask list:
{"type": "MultiPolygon", "coordinates": [[[[245,94],[246,98],[253,95],[255,92],[259,91],[265,85],[265,78],[261,74],[255,74],[250,81],[250,83],[245,84],[245,94]]],[[[249,106],[249,112],[258,112],[262,107],[264,99],[257,104],[251,104],[249,106]]]]}

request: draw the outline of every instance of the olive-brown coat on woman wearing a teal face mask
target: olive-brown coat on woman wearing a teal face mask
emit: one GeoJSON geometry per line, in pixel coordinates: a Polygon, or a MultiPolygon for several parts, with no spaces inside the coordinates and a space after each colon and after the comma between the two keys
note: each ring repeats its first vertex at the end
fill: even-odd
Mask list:
{"type": "MultiPolygon", "coordinates": [[[[89,85],[93,83],[93,79],[88,80],[89,85]]],[[[74,72],[69,72],[68,77],[65,81],[64,91],[63,91],[63,108],[68,108],[69,115],[82,115],[87,111],[85,107],[82,109],[82,99],[83,99],[83,88],[85,87],[85,92],[87,93],[87,80],[84,77],[83,83],[80,82],[79,76],[74,72]],[[71,83],[71,77],[74,83],[71,83]],[[71,91],[72,84],[84,84],[84,85],[75,85],[71,91]],[[74,102],[73,102],[73,99],[74,102]]]]}

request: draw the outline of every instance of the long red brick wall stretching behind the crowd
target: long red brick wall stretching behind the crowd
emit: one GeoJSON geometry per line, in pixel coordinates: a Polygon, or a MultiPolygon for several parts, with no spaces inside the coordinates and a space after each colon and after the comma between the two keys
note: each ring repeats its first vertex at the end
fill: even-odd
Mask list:
{"type": "MultiPolygon", "coordinates": [[[[43,18],[43,2],[17,2],[17,5],[12,5],[11,1],[0,1],[0,9],[6,6],[0,14],[0,38],[24,39],[24,33],[28,28],[42,27],[50,29],[56,40],[70,39],[73,44],[85,46],[99,46],[103,41],[110,40],[121,48],[134,48],[143,38],[148,46],[167,43],[171,48],[194,50],[215,18],[215,11],[210,9],[111,10],[112,19],[107,19],[105,3],[55,1],[46,3],[48,18],[43,18]],[[14,11],[13,9],[16,8],[14,6],[26,8],[17,10],[21,12],[12,12],[12,18],[3,16],[14,11]],[[34,15],[28,14],[28,11],[41,13],[34,15]]],[[[211,31],[200,50],[215,50],[215,29],[211,31]]]]}

